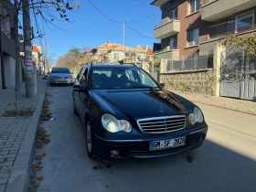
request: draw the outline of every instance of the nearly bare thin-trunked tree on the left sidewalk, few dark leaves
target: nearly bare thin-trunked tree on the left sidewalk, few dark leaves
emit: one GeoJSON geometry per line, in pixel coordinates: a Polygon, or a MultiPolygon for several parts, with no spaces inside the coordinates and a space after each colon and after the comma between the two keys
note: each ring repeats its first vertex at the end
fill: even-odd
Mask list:
{"type": "MultiPolygon", "coordinates": [[[[30,0],[26,2],[27,4],[23,5],[25,2],[23,0],[1,0],[0,8],[4,8],[9,11],[11,14],[11,18],[14,20],[14,39],[16,42],[16,113],[20,112],[20,49],[19,49],[19,39],[18,39],[18,28],[22,29],[21,22],[19,21],[19,15],[27,14],[35,17],[36,21],[36,34],[32,34],[28,39],[31,41],[34,38],[42,37],[42,34],[38,27],[37,19],[40,17],[42,21],[47,25],[52,25],[54,27],[58,27],[54,24],[55,20],[64,20],[69,22],[68,12],[75,7],[80,8],[80,4],[77,2],[73,2],[72,0],[30,0]],[[25,6],[28,6],[29,13],[24,13],[22,10],[25,10],[25,6]],[[56,16],[56,13],[59,16],[56,16]]],[[[28,10],[28,9],[27,9],[28,10]]],[[[58,27],[59,28],[59,27],[58,27]]],[[[30,33],[29,33],[30,34],[30,33]]],[[[26,42],[25,42],[26,43],[26,42]]],[[[32,78],[32,77],[31,77],[32,78]]]]}

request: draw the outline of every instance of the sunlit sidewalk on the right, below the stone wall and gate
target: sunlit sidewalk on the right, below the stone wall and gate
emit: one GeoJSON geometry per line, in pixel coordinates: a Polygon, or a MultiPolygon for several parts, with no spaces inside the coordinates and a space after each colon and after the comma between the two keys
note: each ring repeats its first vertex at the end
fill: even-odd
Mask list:
{"type": "Polygon", "coordinates": [[[188,93],[182,91],[173,91],[176,94],[186,98],[189,101],[208,104],[216,107],[221,107],[237,112],[247,112],[256,114],[256,102],[255,101],[244,101],[225,97],[214,97],[196,93],[188,93]]]}

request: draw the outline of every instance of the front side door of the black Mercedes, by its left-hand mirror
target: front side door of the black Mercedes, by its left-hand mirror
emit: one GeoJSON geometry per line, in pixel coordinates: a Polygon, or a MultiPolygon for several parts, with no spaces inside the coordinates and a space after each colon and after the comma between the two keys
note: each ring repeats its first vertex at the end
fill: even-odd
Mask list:
{"type": "MultiPolygon", "coordinates": [[[[81,71],[80,74],[80,85],[83,85],[84,87],[87,87],[88,84],[88,73],[89,73],[89,68],[84,67],[84,69],[81,71]]],[[[79,105],[80,105],[80,116],[82,118],[82,121],[84,121],[84,115],[88,111],[88,91],[85,92],[79,92],[80,94],[80,100],[79,100],[79,105]]]]}

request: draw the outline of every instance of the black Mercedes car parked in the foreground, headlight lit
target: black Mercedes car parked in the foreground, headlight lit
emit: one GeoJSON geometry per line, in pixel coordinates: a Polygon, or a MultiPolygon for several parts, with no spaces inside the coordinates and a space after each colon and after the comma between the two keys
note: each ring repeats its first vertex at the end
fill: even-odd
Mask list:
{"type": "Polygon", "coordinates": [[[73,86],[88,155],[114,159],[174,155],[203,144],[201,110],[132,65],[87,64],[73,86]]]}

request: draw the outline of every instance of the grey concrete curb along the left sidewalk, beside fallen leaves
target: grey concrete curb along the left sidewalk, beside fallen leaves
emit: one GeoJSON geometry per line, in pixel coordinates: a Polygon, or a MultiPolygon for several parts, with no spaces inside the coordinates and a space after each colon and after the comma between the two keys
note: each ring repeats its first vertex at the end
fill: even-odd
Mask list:
{"type": "Polygon", "coordinates": [[[37,136],[37,127],[40,123],[40,117],[47,91],[47,84],[44,93],[39,97],[37,106],[31,121],[27,127],[27,133],[16,155],[16,161],[13,165],[12,173],[9,177],[5,192],[25,192],[29,184],[29,177],[35,152],[35,142],[37,136]]]}

